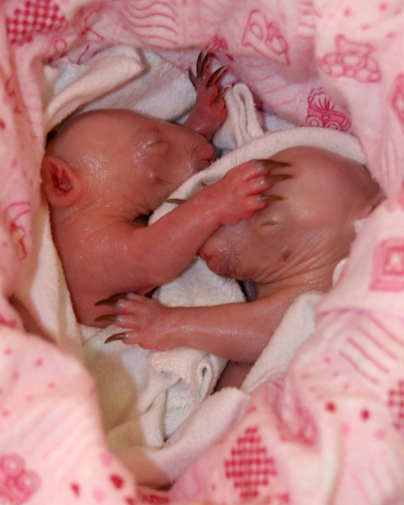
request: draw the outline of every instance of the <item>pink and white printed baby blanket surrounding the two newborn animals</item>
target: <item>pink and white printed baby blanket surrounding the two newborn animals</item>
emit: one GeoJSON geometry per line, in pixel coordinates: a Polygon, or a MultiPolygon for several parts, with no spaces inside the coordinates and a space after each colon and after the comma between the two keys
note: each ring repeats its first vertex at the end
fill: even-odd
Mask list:
{"type": "MultiPolygon", "coordinates": [[[[404,2],[12,0],[0,5],[0,503],[404,501],[404,2]],[[177,62],[216,53],[279,117],[350,131],[388,199],[367,220],[315,335],[171,493],[107,450],[83,365],[10,303],[32,244],[47,125],[43,65],[105,44],[177,62]]],[[[108,69],[105,69],[108,73],[108,69]]]]}

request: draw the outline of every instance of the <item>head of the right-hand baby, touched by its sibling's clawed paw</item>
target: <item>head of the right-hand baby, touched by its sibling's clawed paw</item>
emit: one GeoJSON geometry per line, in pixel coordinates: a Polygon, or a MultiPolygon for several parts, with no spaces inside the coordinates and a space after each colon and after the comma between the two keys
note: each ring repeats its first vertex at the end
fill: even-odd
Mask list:
{"type": "Polygon", "coordinates": [[[248,220],[222,226],[199,250],[221,276],[260,281],[338,263],[348,255],[354,223],[373,208],[380,190],[364,166],[329,151],[288,148],[271,159],[290,164],[273,200],[248,220]]]}

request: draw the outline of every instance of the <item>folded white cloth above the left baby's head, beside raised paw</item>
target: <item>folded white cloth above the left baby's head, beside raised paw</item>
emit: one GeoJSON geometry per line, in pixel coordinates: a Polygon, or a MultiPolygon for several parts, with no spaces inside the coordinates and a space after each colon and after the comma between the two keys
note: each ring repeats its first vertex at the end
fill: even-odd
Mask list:
{"type": "Polygon", "coordinates": [[[103,43],[93,52],[44,66],[45,130],[90,109],[126,108],[170,121],[191,109],[188,76],[156,53],[103,43]]]}

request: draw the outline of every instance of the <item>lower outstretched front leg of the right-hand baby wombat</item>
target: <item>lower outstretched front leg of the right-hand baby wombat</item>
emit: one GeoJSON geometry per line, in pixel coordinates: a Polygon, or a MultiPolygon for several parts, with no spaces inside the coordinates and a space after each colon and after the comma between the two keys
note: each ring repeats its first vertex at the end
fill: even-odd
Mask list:
{"type": "Polygon", "coordinates": [[[155,350],[189,346],[238,363],[254,363],[295,296],[288,290],[247,303],[166,307],[130,293],[98,302],[112,313],[97,322],[123,328],[105,343],[119,340],[155,350]]]}

